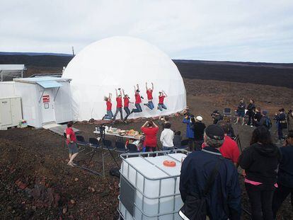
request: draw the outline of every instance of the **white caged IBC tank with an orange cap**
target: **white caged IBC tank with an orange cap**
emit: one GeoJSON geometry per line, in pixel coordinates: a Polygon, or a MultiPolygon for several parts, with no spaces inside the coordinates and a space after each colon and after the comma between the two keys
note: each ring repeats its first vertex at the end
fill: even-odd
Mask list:
{"type": "Polygon", "coordinates": [[[127,220],[181,219],[178,211],[183,202],[179,192],[179,180],[181,161],[186,156],[177,153],[142,157],[138,154],[138,157],[124,158],[121,181],[125,182],[126,179],[130,187],[124,187],[125,184],[121,183],[119,211],[122,217],[127,220]],[[164,166],[163,161],[174,161],[176,166],[164,166]],[[125,193],[132,194],[125,192],[126,188],[133,189],[133,206],[124,204],[124,199],[121,198],[125,193]]]}

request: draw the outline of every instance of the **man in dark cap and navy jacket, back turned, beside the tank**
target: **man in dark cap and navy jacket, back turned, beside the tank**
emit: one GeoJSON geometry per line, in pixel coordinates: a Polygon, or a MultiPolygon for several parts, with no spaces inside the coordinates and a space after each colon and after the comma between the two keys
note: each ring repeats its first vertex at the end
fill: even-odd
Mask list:
{"type": "Polygon", "coordinates": [[[193,211],[199,209],[195,207],[195,199],[205,198],[209,219],[239,220],[239,176],[233,163],[219,151],[224,142],[224,131],[218,125],[209,125],[204,139],[205,149],[188,154],[182,163],[179,186],[182,201],[193,211]],[[207,183],[211,186],[205,195],[207,183]]]}

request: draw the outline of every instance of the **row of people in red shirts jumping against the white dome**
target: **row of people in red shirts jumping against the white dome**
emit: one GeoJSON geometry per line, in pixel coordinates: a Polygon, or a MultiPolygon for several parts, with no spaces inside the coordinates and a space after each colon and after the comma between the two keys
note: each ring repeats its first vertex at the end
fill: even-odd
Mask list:
{"type": "MultiPolygon", "coordinates": [[[[154,102],[153,102],[153,91],[154,91],[154,83],[151,83],[151,88],[148,87],[146,83],[146,97],[147,97],[147,103],[144,103],[144,105],[149,108],[150,110],[154,110],[154,102]]],[[[122,122],[127,122],[127,118],[132,114],[132,113],[138,113],[142,112],[142,95],[140,95],[140,90],[139,90],[139,84],[137,86],[134,86],[134,102],[130,101],[130,96],[125,94],[124,89],[118,88],[115,89],[116,93],[116,111],[115,114],[113,115],[112,112],[112,93],[109,93],[108,96],[104,97],[104,100],[106,102],[106,109],[107,112],[105,116],[102,118],[102,120],[113,120],[113,123],[116,121],[116,117],[118,112],[120,112],[120,119],[122,122]],[[119,93],[118,93],[119,91],[119,93]],[[130,111],[130,103],[134,104],[135,108],[132,108],[130,111]],[[122,108],[124,108],[126,116],[123,118],[123,111],[122,108]]],[[[165,91],[159,91],[159,102],[157,109],[160,111],[166,110],[167,107],[164,104],[164,100],[168,95],[166,94],[165,91]]]]}

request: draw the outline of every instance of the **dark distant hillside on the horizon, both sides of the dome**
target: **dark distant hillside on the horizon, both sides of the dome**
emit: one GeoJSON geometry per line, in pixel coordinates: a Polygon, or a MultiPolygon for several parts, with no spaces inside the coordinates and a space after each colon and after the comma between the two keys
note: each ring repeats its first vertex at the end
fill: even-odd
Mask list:
{"type": "MultiPolygon", "coordinates": [[[[25,64],[25,76],[59,73],[72,59],[69,54],[1,54],[0,64],[25,64]]],[[[293,88],[293,64],[216,62],[174,59],[185,79],[213,79],[293,88]]],[[[196,86],[196,85],[195,85],[196,86]]],[[[293,95],[293,94],[292,94],[293,95]]]]}

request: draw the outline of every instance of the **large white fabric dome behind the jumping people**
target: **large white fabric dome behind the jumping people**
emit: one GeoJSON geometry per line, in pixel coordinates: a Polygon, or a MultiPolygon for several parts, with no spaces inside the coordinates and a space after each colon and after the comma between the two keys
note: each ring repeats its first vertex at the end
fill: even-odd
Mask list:
{"type": "MultiPolygon", "coordinates": [[[[183,79],[173,61],[154,45],[134,37],[109,37],[85,47],[64,70],[64,78],[72,79],[74,119],[100,120],[106,113],[104,96],[113,94],[112,111],[116,110],[115,88],[124,88],[134,102],[134,85],[139,84],[142,112],[129,118],[170,115],[186,107],[186,91],[183,79]],[[147,103],[146,86],[154,83],[154,110],[147,103]],[[159,91],[168,95],[164,104],[168,108],[157,109],[159,91]]],[[[130,111],[134,104],[130,104],[130,111]]],[[[123,110],[123,109],[122,109],[123,110]]],[[[123,110],[123,117],[126,113],[123,110]]],[[[118,113],[117,119],[120,119],[118,113]]]]}

